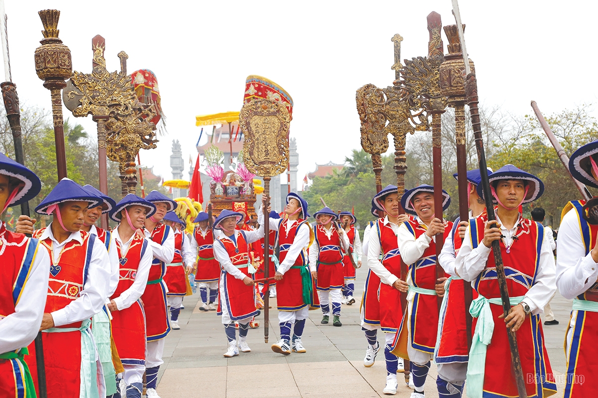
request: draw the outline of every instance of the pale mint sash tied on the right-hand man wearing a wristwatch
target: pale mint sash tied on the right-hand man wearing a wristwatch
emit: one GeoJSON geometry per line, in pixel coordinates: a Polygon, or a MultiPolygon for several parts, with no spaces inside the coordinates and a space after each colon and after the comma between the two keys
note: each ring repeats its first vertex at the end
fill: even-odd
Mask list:
{"type": "MultiPolygon", "coordinates": [[[[511,307],[521,303],[524,296],[510,297],[511,307]]],[[[482,398],[484,390],[484,370],[486,369],[486,348],[492,340],[494,332],[494,319],[490,304],[502,306],[502,300],[498,298],[486,298],[479,295],[471,302],[469,313],[477,318],[475,333],[469,350],[469,364],[467,365],[467,395],[471,398],[482,398]]]]}

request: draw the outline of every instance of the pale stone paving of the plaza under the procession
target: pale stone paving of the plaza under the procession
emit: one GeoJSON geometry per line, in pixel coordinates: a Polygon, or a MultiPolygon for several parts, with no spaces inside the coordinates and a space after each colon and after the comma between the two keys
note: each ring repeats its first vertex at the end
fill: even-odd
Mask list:
{"type": "MultiPolygon", "coordinates": [[[[386,368],[383,350],[371,368],[365,368],[363,358],[367,342],[359,326],[359,304],[366,270],[357,272],[355,298],[357,303],[341,310],[343,326],[321,325],[320,310],[310,311],[303,334],[307,353],[282,356],[270,349],[279,338],[276,298],[271,299],[270,339],[264,343],[264,328],[250,329],[248,344],[251,353],[227,359],[227,340],[215,311],[199,310],[199,292],[184,300],[185,309],[179,316],[181,329],[171,331],[166,338],[164,365],[160,368],[158,394],[161,398],[180,397],[330,397],[341,393],[352,398],[384,397],[386,368]]],[[[199,303],[201,304],[201,303],[199,303]]],[[[566,372],[563,341],[569,320],[571,302],[558,293],[553,311],[560,321],[556,326],[544,326],[548,356],[562,396],[566,372]]],[[[263,323],[263,315],[259,317],[263,323]]],[[[382,332],[378,334],[384,344],[382,332]]],[[[425,385],[426,397],[438,397],[436,366],[425,385]]],[[[409,397],[411,391],[398,375],[396,397],[409,397]]]]}

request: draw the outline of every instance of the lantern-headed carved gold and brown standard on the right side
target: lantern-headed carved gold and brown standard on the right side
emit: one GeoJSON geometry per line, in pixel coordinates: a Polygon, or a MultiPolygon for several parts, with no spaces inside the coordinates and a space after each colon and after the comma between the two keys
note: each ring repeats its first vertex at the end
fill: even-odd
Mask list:
{"type": "MultiPolygon", "coordinates": [[[[465,25],[463,25],[465,29],[465,25]]],[[[457,25],[448,25],[444,27],[449,39],[449,54],[444,57],[440,66],[440,88],[442,94],[448,97],[448,104],[454,107],[454,132],[457,149],[457,185],[459,191],[459,218],[460,221],[469,219],[468,210],[468,192],[467,192],[467,156],[465,149],[465,81],[463,80],[463,70],[465,62],[459,41],[459,31],[457,25]]],[[[475,71],[474,63],[469,60],[469,68],[475,71]]],[[[473,300],[471,284],[463,284],[465,295],[465,308],[468,309],[473,300]]],[[[471,323],[472,317],[468,310],[465,311],[465,325],[467,331],[467,344],[471,347],[471,323]]]]}

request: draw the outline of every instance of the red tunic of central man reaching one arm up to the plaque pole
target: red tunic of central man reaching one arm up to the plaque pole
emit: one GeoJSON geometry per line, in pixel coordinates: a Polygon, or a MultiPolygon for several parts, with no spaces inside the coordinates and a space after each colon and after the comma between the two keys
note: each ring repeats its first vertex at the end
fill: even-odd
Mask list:
{"type": "MultiPolygon", "coordinates": [[[[237,266],[242,273],[249,276],[247,269],[249,264],[249,248],[245,233],[240,231],[236,240],[235,245],[235,242],[230,238],[221,236],[214,243],[222,245],[226,249],[233,266],[237,266]]],[[[255,287],[253,285],[245,285],[242,279],[236,279],[236,277],[225,270],[222,270],[221,277],[224,278],[224,289],[219,291],[218,295],[218,314],[222,314],[222,306],[226,306],[231,320],[242,320],[257,315],[258,311],[255,309],[255,287]]]]}

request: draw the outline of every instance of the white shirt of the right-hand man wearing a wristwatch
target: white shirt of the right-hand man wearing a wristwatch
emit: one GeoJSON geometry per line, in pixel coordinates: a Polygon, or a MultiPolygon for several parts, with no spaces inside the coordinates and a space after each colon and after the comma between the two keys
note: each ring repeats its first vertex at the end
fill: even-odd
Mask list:
{"type": "MultiPolygon", "coordinates": [[[[498,215],[496,221],[502,224],[498,215]]],[[[521,215],[511,229],[501,225],[501,234],[504,235],[505,244],[511,245],[512,236],[517,231],[517,226],[521,222],[521,215]]],[[[459,249],[459,254],[455,261],[455,269],[460,277],[468,282],[475,283],[475,279],[486,268],[486,261],[492,255],[492,246],[487,248],[483,242],[480,242],[477,248],[472,249],[470,227],[465,231],[465,238],[459,249]]],[[[535,248],[530,248],[535,250],[535,248]]],[[[496,282],[498,283],[498,282],[496,282]]],[[[544,307],[550,301],[556,291],[556,278],[554,255],[550,249],[550,245],[546,240],[542,239],[542,247],[540,249],[540,260],[538,271],[535,276],[535,283],[527,291],[523,301],[530,307],[533,314],[540,314],[544,311],[544,307]]]]}

